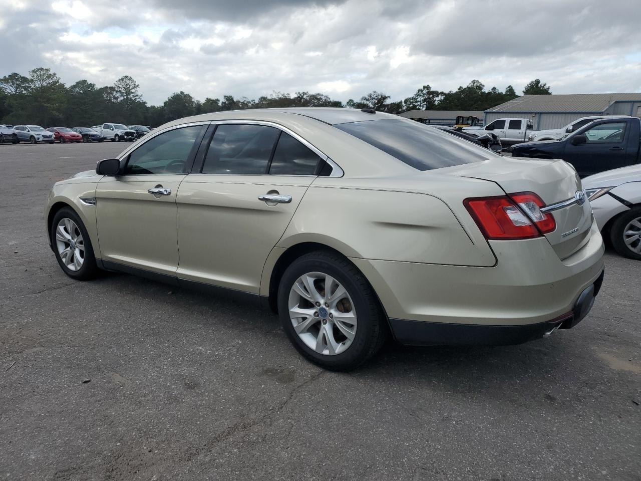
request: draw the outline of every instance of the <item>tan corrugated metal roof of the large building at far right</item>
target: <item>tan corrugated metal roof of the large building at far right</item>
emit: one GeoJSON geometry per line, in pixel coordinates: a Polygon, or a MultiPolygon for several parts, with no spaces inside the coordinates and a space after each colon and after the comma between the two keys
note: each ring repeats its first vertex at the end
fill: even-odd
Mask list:
{"type": "Polygon", "coordinates": [[[616,101],[641,102],[637,94],[524,95],[485,112],[604,112],[616,101]]]}

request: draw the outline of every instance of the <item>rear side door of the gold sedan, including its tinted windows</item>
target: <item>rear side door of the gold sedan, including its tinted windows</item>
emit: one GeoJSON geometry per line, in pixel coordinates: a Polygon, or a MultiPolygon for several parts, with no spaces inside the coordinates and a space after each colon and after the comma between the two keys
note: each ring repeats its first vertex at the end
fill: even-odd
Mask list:
{"type": "MultiPolygon", "coordinates": [[[[178,277],[258,294],[324,156],[269,122],[219,122],[178,192],[178,277]]],[[[207,138],[207,137],[206,137],[207,138]]]]}

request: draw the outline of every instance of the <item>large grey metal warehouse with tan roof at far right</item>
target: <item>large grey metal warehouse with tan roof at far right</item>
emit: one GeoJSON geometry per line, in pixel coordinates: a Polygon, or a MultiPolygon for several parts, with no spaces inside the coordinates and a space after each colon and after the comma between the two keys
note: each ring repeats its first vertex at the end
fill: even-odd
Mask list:
{"type": "Polygon", "coordinates": [[[534,130],[561,128],[588,115],[641,117],[641,93],[524,95],[485,110],[485,124],[501,117],[531,119],[534,130]]]}

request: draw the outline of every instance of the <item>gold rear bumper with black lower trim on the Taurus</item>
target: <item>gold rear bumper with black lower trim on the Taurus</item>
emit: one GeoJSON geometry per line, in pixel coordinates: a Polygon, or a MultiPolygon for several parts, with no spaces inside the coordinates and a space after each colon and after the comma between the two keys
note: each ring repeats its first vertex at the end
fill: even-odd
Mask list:
{"type": "Polygon", "coordinates": [[[579,295],[603,273],[596,223],[585,246],[563,260],[543,237],[490,245],[494,267],[351,260],[374,287],[397,338],[408,344],[510,344],[538,337],[550,323],[573,316],[579,295]]]}

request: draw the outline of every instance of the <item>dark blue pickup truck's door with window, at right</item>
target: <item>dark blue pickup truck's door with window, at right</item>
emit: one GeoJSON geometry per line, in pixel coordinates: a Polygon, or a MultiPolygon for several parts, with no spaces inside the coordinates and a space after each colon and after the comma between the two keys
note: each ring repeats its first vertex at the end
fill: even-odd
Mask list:
{"type": "Polygon", "coordinates": [[[563,160],[570,162],[581,177],[627,165],[627,121],[601,122],[588,125],[568,137],[563,150],[563,160]],[[572,138],[585,135],[585,144],[574,145],[572,138]]]}

